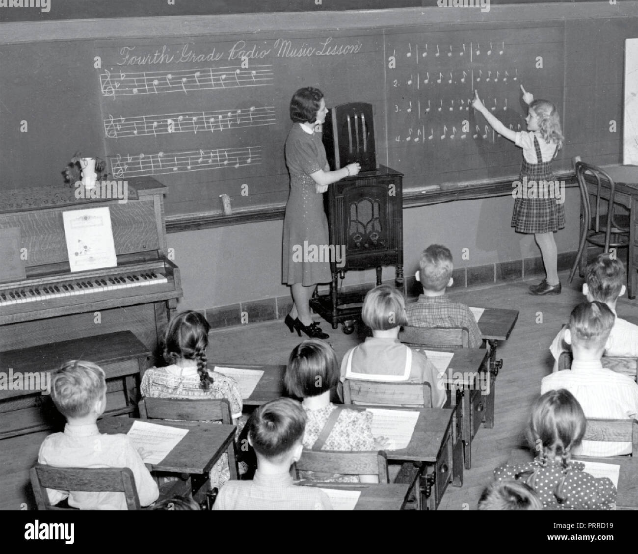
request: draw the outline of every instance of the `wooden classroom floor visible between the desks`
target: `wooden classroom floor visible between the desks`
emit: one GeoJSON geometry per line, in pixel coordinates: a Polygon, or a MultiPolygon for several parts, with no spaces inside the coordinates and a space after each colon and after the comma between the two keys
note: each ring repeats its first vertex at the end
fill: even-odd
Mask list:
{"type": "MultiPolygon", "coordinates": [[[[561,274],[563,283],[567,275],[561,274]]],[[[538,281],[538,280],[536,280],[538,281]]],[[[471,305],[495,306],[519,310],[519,318],[510,339],[498,349],[503,369],[496,379],[496,408],[493,429],[480,428],[473,442],[471,470],[464,472],[461,488],[449,486],[440,509],[475,509],[480,492],[491,480],[495,467],[507,460],[510,451],[524,444],[524,426],[531,403],[540,391],[540,380],[551,372],[549,344],[567,321],[575,304],[584,299],[580,281],[563,288],[563,294],[534,297],[527,294],[528,282],[515,282],[489,288],[454,292],[450,297],[471,305]]],[[[638,301],[621,299],[618,315],[638,324],[638,301]]],[[[330,333],[328,342],[339,357],[363,340],[357,333],[346,335],[322,325],[330,333]]],[[[301,339],[290,334],[282,321],[231,327],[211,333],[209,359],[217,363],[285,364],[288,354],[301,339]]],[[[1,414],[0,414],[1,417],[1,414]]],[[[47,433],[34,433],[0,442],[0,509],[20,509],[26,502],[33,508],[28,483],[29,468],[47,433]]]]}

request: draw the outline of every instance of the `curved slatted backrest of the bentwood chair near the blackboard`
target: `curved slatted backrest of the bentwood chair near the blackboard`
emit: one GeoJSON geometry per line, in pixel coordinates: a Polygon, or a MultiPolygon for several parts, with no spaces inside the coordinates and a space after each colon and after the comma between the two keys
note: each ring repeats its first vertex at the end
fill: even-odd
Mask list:
{"type": "MultiPolygon", "coordinates": [[[[616,183],[614,183],[614,179],[612,179],[607,172],[595,165],[584,163],[584,161],[577,161],[574,167],[576,170],[576,177],[578,179],[578,186],[581,191],[581,206],[585,218],[585,224],[590,230],[594,230],[597,233],[605,232],[605,252],[607,252],[609,251],[609,243],[611,241],[611,228],[618,227],[618,224],[614,220],[614,195],[616,194],[616,183]],[[591,209],[589,189],[586,183],[586,176],[591,176],[590,182],[597,186],[596,204],[594,206],[593,213],[591,209]],[[604,181],[609,183],[609,200],[601,198],[602,183],[604,181]],[[602,209],[603,206],[605,206],[605,209],[602,209]],[[601,228],[600,218],[605,214],[608,215],[607,226],[605,228],[601,228]],[[609,215],[611,215],[611,217],[609,217],[609,215]]],[[[606,185],[605,189],[607,189],[606,185]]]]}

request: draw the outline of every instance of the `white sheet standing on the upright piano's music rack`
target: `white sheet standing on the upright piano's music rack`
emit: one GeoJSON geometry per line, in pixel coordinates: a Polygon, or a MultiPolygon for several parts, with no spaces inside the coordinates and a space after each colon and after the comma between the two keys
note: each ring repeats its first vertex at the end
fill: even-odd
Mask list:
{"type": "Polygon", "coordinates": [[[65,211],[62,217],[71,273],[117,266],[108,206],[65,211]]]}

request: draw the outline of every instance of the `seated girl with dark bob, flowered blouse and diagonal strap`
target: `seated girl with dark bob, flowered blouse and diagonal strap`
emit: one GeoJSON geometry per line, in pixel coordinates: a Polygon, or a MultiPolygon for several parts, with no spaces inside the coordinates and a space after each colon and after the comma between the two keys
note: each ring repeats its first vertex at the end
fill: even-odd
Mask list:
{"type": "MultiPolygon", "coordinates": [[[[284,378],[286,389],[303,398],[302,407],[308,421],[304,448],[315,450],[382,450],[388,447],[383,438],[372,436],[372,413],[337,406],[330,393],[339,383],[339,361],[329,344],[319,339],[304,340],[293,348],[284,378]]],[[[343,483],[378,483],[376,475],[326,475],[301,472],[302,479],[343,483]]]]}

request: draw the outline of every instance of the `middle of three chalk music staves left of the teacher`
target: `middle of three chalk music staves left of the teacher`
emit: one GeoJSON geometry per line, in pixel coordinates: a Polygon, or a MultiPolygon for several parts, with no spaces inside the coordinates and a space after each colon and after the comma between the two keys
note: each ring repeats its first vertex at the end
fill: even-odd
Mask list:
{"type": "Polygon", "coordinates": [[[151,116],[113,117],[104,119],[104,132],[107,139],[122,137],[143,137],[145,135],[164,135],[171,133],[195,133],[223,131],[232,128],[258,127],[274,125],[276,118],[274,106],[211,110],[202,112],[182,112],[151,116]]]}

